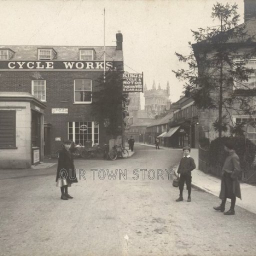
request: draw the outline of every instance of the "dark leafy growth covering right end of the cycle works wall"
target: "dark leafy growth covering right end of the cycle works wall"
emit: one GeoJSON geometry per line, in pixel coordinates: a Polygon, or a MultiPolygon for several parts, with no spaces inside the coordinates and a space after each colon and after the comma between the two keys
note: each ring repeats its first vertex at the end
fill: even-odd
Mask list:
{"type": "Polygon", "coordinates": [[[104,123],[106,134],[121,134],[122,121],[122,73],[108,70],[97,79],[92,92],[92,113],[104,123]]]}

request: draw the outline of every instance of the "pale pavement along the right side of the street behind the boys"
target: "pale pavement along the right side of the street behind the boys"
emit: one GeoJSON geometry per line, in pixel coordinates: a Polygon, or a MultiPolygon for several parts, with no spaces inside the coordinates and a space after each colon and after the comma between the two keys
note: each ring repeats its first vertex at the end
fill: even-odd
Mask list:
{"type": "MultiPolygon", "coordinates": [[[[154,145],[141,144],[145,146],[155,147],[154,145]]],[[[160,149],[168,149],[169,147],[159,146],[160,149]]],[[[180,149],[182,150],[182,149],[180,149]]],[[[192,170],[192,186],[201,189],[205,192],[219,196],[220,192],[220,178],[211,174],[206,174],[198,169],[198,149],[192,148],[190,152],[191,157],[194,158],[196,169],[192,170]]],[[[175,175],[177,176],[178,164],[174,166],[175,175]]],[[[256,186],[240,182],[241,197],[236,199],[235,204],[256,214],[256,186]]],[[[230,199],[227,199],[230,201],[230,199]]]]}

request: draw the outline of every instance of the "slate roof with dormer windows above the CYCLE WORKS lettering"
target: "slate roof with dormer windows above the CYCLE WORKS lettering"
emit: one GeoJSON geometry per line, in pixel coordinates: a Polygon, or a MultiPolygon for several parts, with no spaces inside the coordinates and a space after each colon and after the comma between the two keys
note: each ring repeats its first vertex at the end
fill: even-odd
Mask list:
{"type": "MultiPolygon", "coordinates": [[[[57,46],[57,45],[0,45],[0,49],[11,49],[15,53],[10,60],[38,60],[38,48],[53,48],[56,51],[54,60],[79,60],[79,49],[94,49],[93,60],[103,60],[103,46],[57,46]]],[[[107,61],[123,61],[122,50],[116,50],[116,46],[106,46],[107,61]]]]}

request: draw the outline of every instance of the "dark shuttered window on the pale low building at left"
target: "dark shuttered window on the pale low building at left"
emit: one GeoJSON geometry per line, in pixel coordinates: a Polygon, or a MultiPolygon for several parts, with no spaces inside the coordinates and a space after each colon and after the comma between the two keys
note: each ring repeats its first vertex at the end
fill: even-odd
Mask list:
{"type": "Polygon", "coordinates": [[[0,110],[0,148],[16,146],[16,111],[0,110]]]}

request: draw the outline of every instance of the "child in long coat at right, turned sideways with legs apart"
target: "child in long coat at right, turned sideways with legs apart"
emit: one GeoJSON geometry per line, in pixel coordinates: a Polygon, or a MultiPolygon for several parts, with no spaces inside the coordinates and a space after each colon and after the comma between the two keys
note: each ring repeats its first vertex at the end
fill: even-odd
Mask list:
{"type": "Polygon", "coordinates": [[[241,199],[240,184],[238,181],[240,174],[240,161],[239,156],[235,153],[233,141],[224,142],[224,150],[228,153],[228,156],[224,161],[221,173],[221,188],[219,193],[221,204],[213,207],[213,209],[223,212],[225,210],[226,198],[230,198],[230,209],[224,212],[224,214],[233,215],[235,198],[239,197],[241,199]]]}

